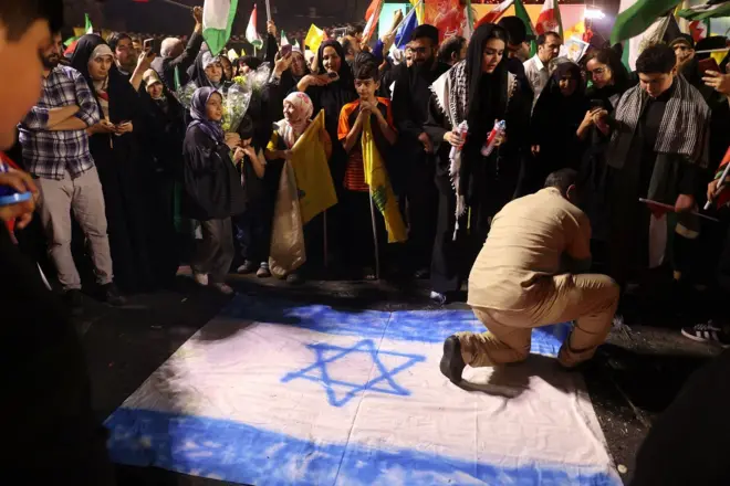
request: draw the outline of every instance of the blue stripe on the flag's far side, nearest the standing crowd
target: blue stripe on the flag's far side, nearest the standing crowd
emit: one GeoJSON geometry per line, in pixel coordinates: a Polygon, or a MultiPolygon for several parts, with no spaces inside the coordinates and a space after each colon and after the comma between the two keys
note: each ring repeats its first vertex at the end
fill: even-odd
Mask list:
{"type": "MultiPolygon", "coordinates": [[[[286,300],[241,296],[223,310],[223,317],[285,324],[333,335],[361,336],[416,342],[441,342],[458,331],[483,332],[471,310],[335,310],[325,305],[296,305],[286,300]]],[[[570,331],[569,324],[536,328],[531,351],[556,356],[570,331]]]]}

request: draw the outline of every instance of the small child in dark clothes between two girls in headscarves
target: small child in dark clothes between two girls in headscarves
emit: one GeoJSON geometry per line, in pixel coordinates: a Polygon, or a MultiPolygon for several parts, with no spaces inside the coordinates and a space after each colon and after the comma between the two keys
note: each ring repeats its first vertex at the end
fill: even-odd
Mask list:
{"type": "Polygon", "coordinates": [[[271,220],[275,198],[274,175],[267,166],[261,149],[253,146],[254,124],[244,117],[238,130],[244,157],[237,162],[241,186],[246,193],[246,213],[236,218],[238,242],[241,246],[243,264],[238,273],[255,272],[259,278],[271,276],[269,271],[269,246],[271,244],[271,220]]]}

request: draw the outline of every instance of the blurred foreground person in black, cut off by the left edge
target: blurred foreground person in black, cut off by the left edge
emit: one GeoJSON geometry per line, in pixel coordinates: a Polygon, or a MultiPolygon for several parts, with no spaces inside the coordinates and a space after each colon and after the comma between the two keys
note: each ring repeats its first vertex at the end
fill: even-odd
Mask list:
{"type": "MultiPolygon", "coordinates": [[[[48,57],[44,62],[58,62],[58,42],[49,44],[54,42],[51,32],[63,24],[62,9],[61,0],[0,2],[0,150],[12,145],[15,125],[36,102],[41,85],[49,91],[51,74],[39,52],[48,57]]],[[[79,108],[43,109],[61,124],[79,108]]],[[[0,175],[0,184],[36,192],[32,179],[20,171],[0,175]]],[[[32,211],[32,201],[3,205],[0,220],[20,218],[22,226],[32,211]]],[[[35,264],[12,244],[4,224],[0,224],[0,369],[10,398],[0,404],[0,425],[12,444],[3,448],[3,477],[22,477],[9,480],[24,484],[113,485],[79,337],[64,306],[45,287],[35,264]]]]}

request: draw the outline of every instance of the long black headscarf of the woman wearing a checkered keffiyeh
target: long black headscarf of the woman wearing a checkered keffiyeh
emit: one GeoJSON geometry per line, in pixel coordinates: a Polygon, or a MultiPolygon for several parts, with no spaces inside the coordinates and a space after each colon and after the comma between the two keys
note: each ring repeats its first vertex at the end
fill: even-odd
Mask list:
{"type": "MultiPolygon", "coordinates": [[[[496,119],[504,119],[508,102],[507,55],[491,74],[482,72],[484,45],[491,39],[504,41],[504,29],[493,23],[479,25],[469,41],[466,60],[466,82],[468,85],[467,122],[472,134],[487,134],[496,119]]],[[[480,147],[483,140],[479,140],[480,147]]]]}

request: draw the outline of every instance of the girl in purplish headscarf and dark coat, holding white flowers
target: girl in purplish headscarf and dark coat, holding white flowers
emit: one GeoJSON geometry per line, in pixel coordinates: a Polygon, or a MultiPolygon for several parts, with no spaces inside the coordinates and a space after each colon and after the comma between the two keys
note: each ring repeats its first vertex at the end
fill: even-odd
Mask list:
{"type": "Polygon", "coordinates": [[[257,155],[250,146],[240,147],[240,139],[225,137],[222,104],[222,96],[212,87],[199,87],[192,95],[192,122],[182,147],[182,212],[202,226],[202,241],[191,265],[196,283],[211,284],[229,295],[233,289],[226,276],[236,253],[231,216],[246,209],[234,163],[257,155]]]}

